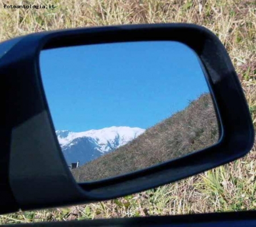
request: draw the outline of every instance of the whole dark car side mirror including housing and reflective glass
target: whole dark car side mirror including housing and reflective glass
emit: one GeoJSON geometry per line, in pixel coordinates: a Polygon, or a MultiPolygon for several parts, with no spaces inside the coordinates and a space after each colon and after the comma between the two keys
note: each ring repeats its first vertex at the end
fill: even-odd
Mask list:
{"type": "Polygon", "coordinates": [[[1,213],[132,194],[253,146],[232,62],[200,26],[34,33],[0,44],[0,74],[1,213]]]}

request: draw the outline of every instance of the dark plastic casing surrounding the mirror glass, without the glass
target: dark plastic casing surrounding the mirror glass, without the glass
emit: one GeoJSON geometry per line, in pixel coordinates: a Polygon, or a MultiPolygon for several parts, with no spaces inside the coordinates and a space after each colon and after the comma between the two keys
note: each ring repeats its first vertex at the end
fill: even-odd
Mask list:
{"type": "Polygon", "coordinates": [[[0,213],[133,194],[233,161],[253,146],[253,124],[237,74],[220,40],[204,27],[147,24],[34,33],[0,44],[0,75],[0,213]],[[221,129],[219,142],[148,169],[98,182],[76,183],[57,141],[44,94],[40,51],[149,40],[179,41],[197,53],[216,106],[221,129]]]}

